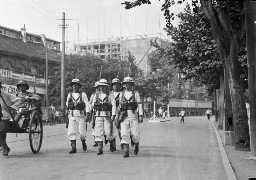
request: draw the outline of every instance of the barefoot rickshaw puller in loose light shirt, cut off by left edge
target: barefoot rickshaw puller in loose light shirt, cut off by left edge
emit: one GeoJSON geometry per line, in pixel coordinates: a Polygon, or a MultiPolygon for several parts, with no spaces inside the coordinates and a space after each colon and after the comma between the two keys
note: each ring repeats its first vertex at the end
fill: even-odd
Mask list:
{"type": "Polygon", "coordinates": [[[7,156],[10,152],[10,148],[6,143],[7,122],[12,118],[10,113],[15,113],[15,111],[19,109],[21,100],[19,97],[8,92],[1,91],[1,88],[2,83],[0,82],[0,94],[6,103],[5,105],[3,99],[0,98],[0,147],[2,147],[1,150],[3,150],[3,155],[7,156]]]}

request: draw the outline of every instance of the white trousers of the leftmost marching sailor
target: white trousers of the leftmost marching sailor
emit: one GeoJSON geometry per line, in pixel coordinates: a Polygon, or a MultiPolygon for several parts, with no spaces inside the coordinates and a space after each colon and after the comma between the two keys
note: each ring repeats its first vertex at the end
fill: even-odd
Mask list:
{"type": "Polygon", "coordinates": [[[68,139],[76,140],[76,132],[80,135],[80,139],[84,140],[86,138],[86,126],[84,117],[69,117],[68,123],[68,139]]]}

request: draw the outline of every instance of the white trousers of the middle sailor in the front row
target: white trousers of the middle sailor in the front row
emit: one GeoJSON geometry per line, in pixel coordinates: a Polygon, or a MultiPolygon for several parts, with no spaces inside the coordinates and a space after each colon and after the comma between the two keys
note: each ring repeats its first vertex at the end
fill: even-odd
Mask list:
{"type": "Polygon", "coordinates": [[[113,124],[112,136],[110,135],[111,118],[106,116],[97,116],[95,119],[94,135],[95,141],[104,141],[104,136],[107,140],[113,140],[116,137],[116,126],[113,124]]]}

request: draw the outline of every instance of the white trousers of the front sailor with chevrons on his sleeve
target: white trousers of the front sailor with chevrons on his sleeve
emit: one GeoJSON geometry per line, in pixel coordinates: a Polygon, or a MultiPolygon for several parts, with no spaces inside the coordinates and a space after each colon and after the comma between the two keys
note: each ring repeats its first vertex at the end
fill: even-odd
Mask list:
{"type": "Polygon", "coordinates": [[[140,126],[138,119],[125,117],[121,122],[121,144],[131,144],[130,135],[133,142],[140,142],[140,126]]]}

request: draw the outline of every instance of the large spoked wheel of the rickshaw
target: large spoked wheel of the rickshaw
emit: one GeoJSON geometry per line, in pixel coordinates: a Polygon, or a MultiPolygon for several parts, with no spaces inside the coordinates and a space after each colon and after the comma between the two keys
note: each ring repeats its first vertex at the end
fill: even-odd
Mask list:
{"type": "Polygon", "coordinates": [[[33,111],[29,123],[29,143],[33,153],[38,153],[43,140],[43,125],[41,115],[33,111]]]}

